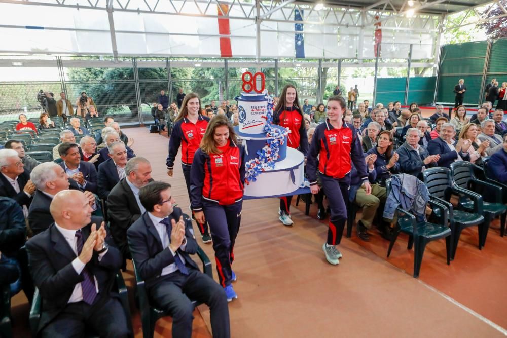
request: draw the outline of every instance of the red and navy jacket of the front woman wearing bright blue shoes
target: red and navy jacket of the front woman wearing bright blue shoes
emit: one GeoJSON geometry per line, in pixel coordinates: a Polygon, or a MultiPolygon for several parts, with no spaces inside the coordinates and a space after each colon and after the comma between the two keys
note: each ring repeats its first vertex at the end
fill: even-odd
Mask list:
{"type": "Polygon", "coordinates": [[[190,200],[194,211],[202,210],[203,200],[231,205],[243,199],[245,152],[242,145],[218,148],[221,154],[206,154],[197,149],[190,170],[190,200]]]}

